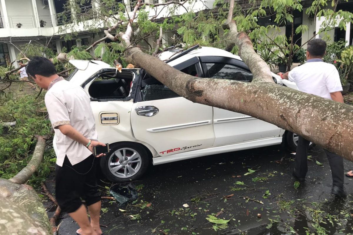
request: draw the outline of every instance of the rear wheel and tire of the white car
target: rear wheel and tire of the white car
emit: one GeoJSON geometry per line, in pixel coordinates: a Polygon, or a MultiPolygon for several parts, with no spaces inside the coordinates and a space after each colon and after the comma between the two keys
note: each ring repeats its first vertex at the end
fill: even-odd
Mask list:
{"type": "Polygon", "coordinates": [[[150,155],[141,144],[119,142],[109,147],[110,152],[100,161],[102,173],[108,180],[125,183],[145,173],[150,164],[150,155]]]}

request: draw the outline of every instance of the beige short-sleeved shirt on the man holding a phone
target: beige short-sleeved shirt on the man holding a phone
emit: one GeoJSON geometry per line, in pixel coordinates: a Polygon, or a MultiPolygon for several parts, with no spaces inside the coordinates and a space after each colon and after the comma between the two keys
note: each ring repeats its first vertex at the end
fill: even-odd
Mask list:
{"type": "Polygon", "coordinates": [[[65,155],[71,165],[90,156],[92,153],[88,148],[58,129],[58,126],[68,124],[89,140],[98,140],[90,99],[84,89],[59,77],[50,83],[44,100],[55,131],[53,146],[56,164],[62,166],[65,155]]]}

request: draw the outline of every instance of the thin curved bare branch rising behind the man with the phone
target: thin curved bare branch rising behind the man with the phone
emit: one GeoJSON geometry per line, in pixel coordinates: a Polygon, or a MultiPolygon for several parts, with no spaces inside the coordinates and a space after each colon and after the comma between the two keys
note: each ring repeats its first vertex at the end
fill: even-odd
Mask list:
{"type": "Polygon", "coordinates": [[[34,149],[34,153],[31,161],[23,168],[17,175],[10,179],[15,184],[24,184],[32,176],[32,174],[38,169],[39,165],[43,160],[44,148],[46,146],[46,137],[37,136],[37,144],[34,149]]]}

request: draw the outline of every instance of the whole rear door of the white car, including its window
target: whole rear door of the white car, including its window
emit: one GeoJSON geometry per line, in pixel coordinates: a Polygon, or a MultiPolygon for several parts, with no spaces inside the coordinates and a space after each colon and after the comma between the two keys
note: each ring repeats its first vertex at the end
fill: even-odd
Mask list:
{"type": "MultiPolygon", "coordinates": [[[[179,64],[178,69],[195,75],[197,64],[194,58],[179,64]]],[[[135,138],[150,144],[161,156],[213,146],[211,106],[180,97],[148,74],[141,77],[138,101],[131,110],[135,138]]]]}

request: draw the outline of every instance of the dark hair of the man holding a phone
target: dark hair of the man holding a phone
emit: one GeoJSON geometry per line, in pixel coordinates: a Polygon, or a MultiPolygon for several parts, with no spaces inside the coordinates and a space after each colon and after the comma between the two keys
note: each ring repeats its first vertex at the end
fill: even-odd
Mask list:
{"type": "Polygon", "coordinates": [[[26,71],[33,77],[36,74],[49,77],[57,73],[54,64],[46,57],[41,56],[32,57],[28,62],[26,71]]]}

